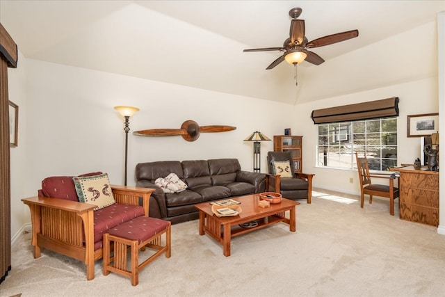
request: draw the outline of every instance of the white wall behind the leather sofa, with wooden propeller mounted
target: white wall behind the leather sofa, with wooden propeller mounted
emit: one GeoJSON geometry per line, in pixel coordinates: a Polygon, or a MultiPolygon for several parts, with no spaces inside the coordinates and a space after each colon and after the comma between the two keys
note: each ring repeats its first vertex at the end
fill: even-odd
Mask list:
{"type": "MultiPolygon", "coordinates": [[[[237,158],[243,170],[252,170],[253,145],[243,139],[255,130],[272,138],[283,134],[293,121],[289,104],[22,58],[24,62],[26,88],[22,64],[17,68],[22,76],[12,76],[10,86],[23,100],[18,102],[23,122],[19,146],[14,149],[22,153],[12,160],[17,168],[12,175],[13,200],[17,200],[13,203],[12,234],[30,221],[29,209],[19,200],[36,195],[44,177],[101,170],[108,172],[112,184],[123,184],[124,120],[113,106],[140,108],[130,119],[128,185],[136,184],[136,163],[145,161],[227,157],[237,158]],[[22,106],[26,106],[23,112],[22,106]],[[203,133],[194,142],[181,136],[131,134],[141,129],[179,128],[185,120],[231,125],[236,130],[203,133]]],[[[267,170],[268,150],[273,150],[272,141],[261,144],[262,172],[267,170]]]]}

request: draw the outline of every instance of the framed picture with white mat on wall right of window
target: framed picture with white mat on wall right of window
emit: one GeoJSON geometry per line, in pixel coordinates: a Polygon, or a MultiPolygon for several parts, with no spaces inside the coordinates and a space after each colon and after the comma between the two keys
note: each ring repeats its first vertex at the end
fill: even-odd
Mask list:
{"type": "Polygon", "coordinates": [[[439,132],[439,113],[407,115],[407,137],[430,136],[439,132]]]}

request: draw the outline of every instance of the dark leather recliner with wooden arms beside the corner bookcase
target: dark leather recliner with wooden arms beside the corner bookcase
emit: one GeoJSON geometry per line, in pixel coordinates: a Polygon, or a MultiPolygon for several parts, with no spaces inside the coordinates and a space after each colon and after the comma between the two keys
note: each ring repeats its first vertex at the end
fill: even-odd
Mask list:
{"type": "Polygon", "coordinates": [[[307,199],[308,204],[312,202],[312,177],[314,175],[295,172],[291,152],[268,152],[267,164],[269,172],[266,178],[267,191],[280,193],[283,198],[291,200],[307,199]],[[275,161],[289,161],[289,168],[285,170],[290,172],[291,177],[282,177],[279,172],[275,174],[275,161]]]}

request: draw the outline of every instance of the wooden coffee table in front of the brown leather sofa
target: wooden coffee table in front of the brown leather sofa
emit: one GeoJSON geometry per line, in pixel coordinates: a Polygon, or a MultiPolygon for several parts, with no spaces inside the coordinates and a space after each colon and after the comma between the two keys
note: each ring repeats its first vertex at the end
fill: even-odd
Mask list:
{"type": "Polygon", "coordinates": [[[200,235],[209,234],[223,245],[224,255],[230,256],[230,239],[234,236],[252,232],[275,223],[289,224],[291,232],[296,231],[296,206],[300,202],[282,199],[281,203],[270,204],[270,207],[258,206],[259,194],[245,195],[232,198],[241,202],[241,214],[238,216],[226,216],[219,218],[211,211],[210,202],[195,205],[200,210],[200,235]],[[284,215],[289,211],[289,218],[284,215]],[[256,220],[258,225],[251,228],[243,228],[238,224],[256,220]]]}

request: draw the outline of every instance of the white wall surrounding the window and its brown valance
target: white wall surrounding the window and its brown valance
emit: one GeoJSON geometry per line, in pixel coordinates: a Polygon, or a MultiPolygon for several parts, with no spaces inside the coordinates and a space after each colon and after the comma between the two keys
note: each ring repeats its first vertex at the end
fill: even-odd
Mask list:
{"type": "Polygon", "coordinates": [[[406,137],[407,115],[436,113],[438,111],[437,77],[296,106],[299,122],[296,127],[293,127],[293,131],[296,131],[296,134],[305,136],[303,138],[303,171],[316,174],[313,179],[314,186],[356,195],[360,193],[357,170],[318,168],[315,166],[318,126],[314,125],[314,122],[309,117],[311,112],[314,109],[324,109],[389,97],[399,97],[400,99],[398,104],[400,113],[397,120],[398,164],[413,163],[414,159],[420,157],[420,139],[417,137],[406,137]],[[350,184],[350,178],[353,178],[353,184],[350,184]]]}

